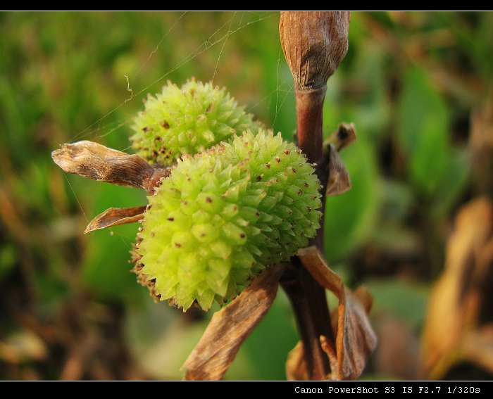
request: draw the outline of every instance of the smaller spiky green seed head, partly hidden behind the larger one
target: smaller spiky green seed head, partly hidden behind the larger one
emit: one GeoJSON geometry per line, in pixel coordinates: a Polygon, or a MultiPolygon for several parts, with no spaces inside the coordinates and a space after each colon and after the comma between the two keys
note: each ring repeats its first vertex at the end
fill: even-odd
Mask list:
{"type": "Polygon", "coordinates": [[[148,95],[130,137],[132,147],[149,163],[172,165],[185,154],[201,153],[233,134],[260,122],[244,112],[225,89],[194,79],[181,88],[168,82],[161,93],[148,95]]]}

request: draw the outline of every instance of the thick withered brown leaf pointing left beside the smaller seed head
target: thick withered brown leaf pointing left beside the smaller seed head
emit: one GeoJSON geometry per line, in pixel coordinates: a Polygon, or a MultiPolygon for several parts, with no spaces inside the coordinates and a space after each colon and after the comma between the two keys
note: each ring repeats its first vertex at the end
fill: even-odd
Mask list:
{"type": "Polygon", "coordinates": [[[53,151],[51,158],[67,173],[107,182],[118,186],[130,186],[151,192],[158,179],[166,177],[168,169],[156,169],[144,158],[128,155],[92,141],[63,144],[53,151]]]}

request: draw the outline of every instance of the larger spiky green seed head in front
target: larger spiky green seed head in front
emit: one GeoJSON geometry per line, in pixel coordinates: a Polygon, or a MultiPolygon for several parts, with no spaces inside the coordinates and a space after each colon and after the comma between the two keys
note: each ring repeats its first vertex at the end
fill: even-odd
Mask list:
{"type": "Polygon", "coordinates": [[[235,298],[320,227],[320,182],[297,146],[258,129],[184,156],[144,213],[139,273],[183,310],[235,298]]]}

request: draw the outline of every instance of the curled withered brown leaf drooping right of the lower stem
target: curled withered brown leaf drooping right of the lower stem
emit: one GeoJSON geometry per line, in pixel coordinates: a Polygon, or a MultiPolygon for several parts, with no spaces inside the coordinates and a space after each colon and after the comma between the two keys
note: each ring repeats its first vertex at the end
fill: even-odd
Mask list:
{"type": "MultiPolygon", "coordinates": [[[[341,277],[330,270],[315,246],[299,250],[298,256],[320,285],[332,291],[339,300],[339,306],[331,317],[333,329],[337,332],[336,342],[320,336],[320,343],[332,368],[327,379],[354,380],[361,375],[377,346],[377,336],[367,317],[372,297],[364,288],[351,293],[344,287],[341,277]]],[[[297,367],[297,374],[302,375],[299,365],[297,367]]]]}

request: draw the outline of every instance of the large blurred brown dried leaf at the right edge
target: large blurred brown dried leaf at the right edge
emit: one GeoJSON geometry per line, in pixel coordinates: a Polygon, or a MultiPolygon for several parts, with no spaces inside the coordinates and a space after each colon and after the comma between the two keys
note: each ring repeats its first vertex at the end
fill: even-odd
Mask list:
{"type": "Polygon", "coordinates": [[[447,243],[444,272],[430,293],[422,335],[427,378],[442,378],[458,360],[457,350],[466,336],[480,329],[482,307],[491,290],[485,281],[492,265],[493,204],[482,197],[458,212],[447,243]]]}

